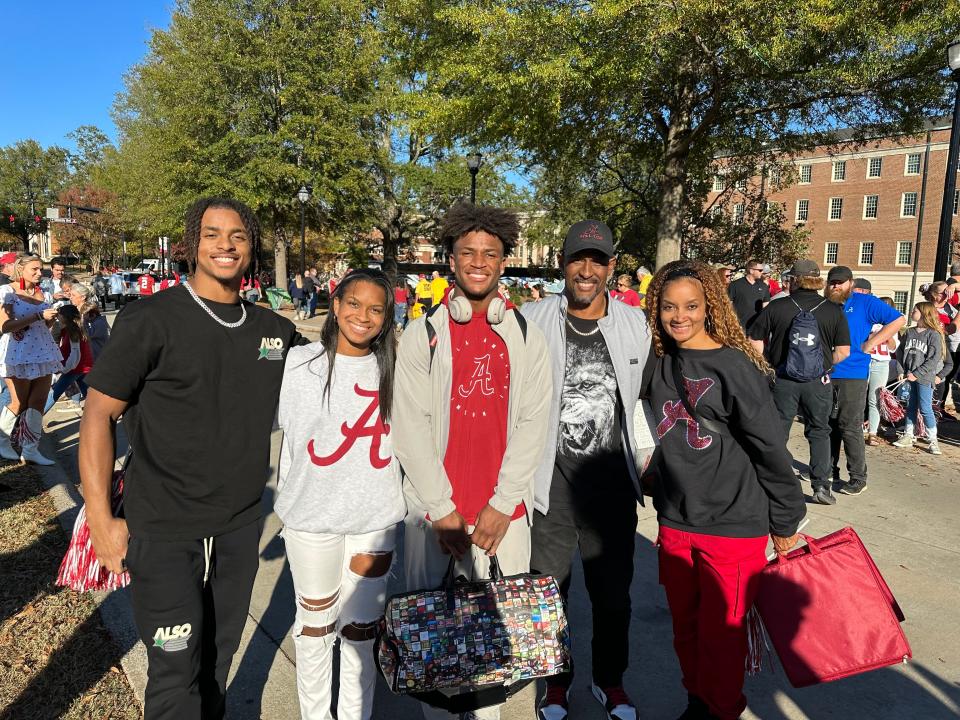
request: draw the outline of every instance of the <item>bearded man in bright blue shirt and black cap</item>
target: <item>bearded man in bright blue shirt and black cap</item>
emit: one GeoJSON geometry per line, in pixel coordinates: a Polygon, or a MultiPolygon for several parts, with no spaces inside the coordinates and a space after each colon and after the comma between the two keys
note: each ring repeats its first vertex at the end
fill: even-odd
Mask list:
{"type": "Polygon", "coordinates": [[[830,417],[830,461],[833,480],[840,482],[840,444],[847,456],[850,480],[840,492],[859,495],[867,487],[863,411],[867,404],[870,353],[886,343],[907,319],[876,295],[853,292],[853,272],[837,265],[827,275],[827,298],[843,306],[850,326],[850,356],[833,368],[833,407],[830,417]],[[874,325],[880,329],[871,332],[874,325]]]}

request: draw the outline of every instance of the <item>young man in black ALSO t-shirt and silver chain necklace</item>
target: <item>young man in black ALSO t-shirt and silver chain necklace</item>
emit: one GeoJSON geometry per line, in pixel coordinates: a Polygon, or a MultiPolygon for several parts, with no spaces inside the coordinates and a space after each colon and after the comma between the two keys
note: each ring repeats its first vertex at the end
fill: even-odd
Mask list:
{"type": "Polygon", "coordinates": [[[130,571],[147,720],[222,718],[259,559],[260,497],[293,324],[241,301],[260,233],[234,200],[187,212],[188,283],[117,318],[87,375],[80,477],[102,565],[130,571]],[[133,457],[110,512],[114,426],[133,457]]]}

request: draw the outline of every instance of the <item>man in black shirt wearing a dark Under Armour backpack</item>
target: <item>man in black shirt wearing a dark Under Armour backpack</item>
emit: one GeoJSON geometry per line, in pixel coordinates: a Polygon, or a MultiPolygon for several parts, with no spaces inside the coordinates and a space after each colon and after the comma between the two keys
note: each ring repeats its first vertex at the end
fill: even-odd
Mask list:
{"type": "Polygon", "coordinates": [[[774,300],[749,330],[750,342],[764,352],[776,370],[774,400],[786,438],[799,410],[810,443],[810,483],[813,499],[833,505],[830,482],[830,411],[833,388],[830,369],[850,354],[850,329],[843,308],[829,302],[820,267],[798,260],[790,270],[789,297],[774,300]]]}

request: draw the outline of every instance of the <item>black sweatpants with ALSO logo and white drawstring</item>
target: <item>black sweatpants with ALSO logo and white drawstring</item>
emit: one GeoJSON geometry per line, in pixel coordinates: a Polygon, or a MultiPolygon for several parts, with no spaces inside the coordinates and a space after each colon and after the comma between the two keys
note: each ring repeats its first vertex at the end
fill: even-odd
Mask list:
{"type": "Polygon", "coordinates": [[[145,720],[224,717],[227,673],[250,609],[259,541],[258,522],[218,535],[207,566],[203,539],[130,538],[130,597],[147,646],[145,720]]]}

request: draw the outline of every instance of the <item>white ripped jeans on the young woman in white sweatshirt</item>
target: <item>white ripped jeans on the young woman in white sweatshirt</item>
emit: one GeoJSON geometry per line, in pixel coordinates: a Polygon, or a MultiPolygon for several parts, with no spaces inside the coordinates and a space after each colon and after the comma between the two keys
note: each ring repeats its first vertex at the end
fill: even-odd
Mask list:
{"type": "MultiPolygon", "coordinates": [[[[363,575],[351,569],[357,556],[392,555],[396,526],[362,535],[328,535],[284,528],[293,575],[297,617],[297,694],[303,720],[332,720],[333,645],[340,637],[339,720],[368,720],[377,669],[373,631],[383,614],[389,567],[363,575]]],[[[363,557],[363,560],[368,560],[363,557]]]]}

